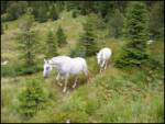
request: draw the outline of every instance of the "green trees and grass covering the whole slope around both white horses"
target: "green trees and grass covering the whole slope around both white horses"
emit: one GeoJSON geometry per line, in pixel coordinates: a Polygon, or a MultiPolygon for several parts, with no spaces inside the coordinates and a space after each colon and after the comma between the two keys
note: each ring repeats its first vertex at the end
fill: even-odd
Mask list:
{"type": "Polygon", "coordinates": [[[1,122],[163,123],[163,3],[1,1],[1,122]],[[99,74],[102,47],[112,56],[99,74]],[[64,94],[56,69],[44,79],[43,59],[56,55],[85,57],[89,82],[79,75],[73,89],[73,76],[64,94]]]}

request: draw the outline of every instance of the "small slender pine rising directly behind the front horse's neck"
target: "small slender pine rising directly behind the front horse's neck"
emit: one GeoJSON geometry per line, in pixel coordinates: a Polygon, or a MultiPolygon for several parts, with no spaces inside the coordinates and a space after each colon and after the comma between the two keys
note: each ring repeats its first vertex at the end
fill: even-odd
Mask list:
{"type": "Polygon", "coordinates": [[[58,55],[57,54],[57,43],[56,43],[56,40],[55,40],[52,31],[50,31],[47,33],[46,45],[47,45],[47,48],[46,48],[46,57],[47,58],[58,55]]]}

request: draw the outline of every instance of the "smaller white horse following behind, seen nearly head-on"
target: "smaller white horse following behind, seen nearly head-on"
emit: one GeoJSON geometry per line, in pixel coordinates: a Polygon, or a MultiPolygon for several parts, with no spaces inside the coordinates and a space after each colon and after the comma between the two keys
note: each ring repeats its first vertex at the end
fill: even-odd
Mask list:
{"type": "Polygon", "coordinates": [[[99,53],[97,53],[97,59],[98,59],[98,65],[100,66],[100,72],[102,71],[102,69],[106,70],[111,54],[112,50],[108,47],[105,47],[100,49],[99,53]]]}

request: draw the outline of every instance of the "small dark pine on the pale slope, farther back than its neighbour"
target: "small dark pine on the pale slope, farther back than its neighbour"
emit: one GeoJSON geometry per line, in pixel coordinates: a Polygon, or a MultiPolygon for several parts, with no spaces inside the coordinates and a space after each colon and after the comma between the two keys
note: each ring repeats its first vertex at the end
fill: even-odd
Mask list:
{"type": "Polygon", "coordinates": [[[56,38],[58,46],[62,47],[67,44],[66,42],[66,35],[64,34],[64,31],[61,26],[58,26],[57,32],[56,32],[56,38]]]}

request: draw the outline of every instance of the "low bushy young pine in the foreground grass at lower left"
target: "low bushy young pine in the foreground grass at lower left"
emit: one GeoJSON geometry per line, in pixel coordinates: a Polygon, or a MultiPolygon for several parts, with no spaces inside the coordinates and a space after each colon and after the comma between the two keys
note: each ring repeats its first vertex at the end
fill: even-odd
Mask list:
{"type": "Polygon", "coordinates": [[[48,103],[46,92],[37,80],[26,81],[25,89],[19,94],[19,113],[23,119],[34,116],[38,111],[45,109],[48,103]]]}

